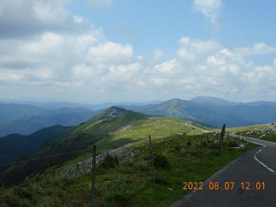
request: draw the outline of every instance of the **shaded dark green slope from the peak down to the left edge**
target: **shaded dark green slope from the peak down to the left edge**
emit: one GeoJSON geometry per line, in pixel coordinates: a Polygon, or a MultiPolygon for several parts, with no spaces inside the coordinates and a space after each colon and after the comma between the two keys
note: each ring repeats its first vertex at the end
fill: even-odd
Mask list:
{"type": "Polygon", "coordinates": [[[50,157],[49,159],[26,161],[11,166],[0,174],[0,182],[17,184],[34,172],[90,151],[92,144],[95,144],[101,139],[110,139],[110,132],[114,132],[127,124],[147,118],[147,116],[137,112],[110,107],[86,123],[70,128],[59,136],[47,139],[39,148],[32,151],[29,155],[22,157],[21,160],[48,157],[57,154],[65,155],[61,157],[50,157]]]}

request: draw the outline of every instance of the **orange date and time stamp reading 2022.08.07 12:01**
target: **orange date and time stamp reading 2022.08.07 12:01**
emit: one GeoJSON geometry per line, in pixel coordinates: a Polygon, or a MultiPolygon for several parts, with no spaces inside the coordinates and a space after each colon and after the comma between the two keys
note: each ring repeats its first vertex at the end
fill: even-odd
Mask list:
{"type": "Polygon", "coordinates": [[[242,190],[265,190],[265,182],[234,182],[234,181],[225,181],[219,183],[217,181],[210,181],[208,184],[204,185],[203,182],[184,182],[183,190],[233,190],[235,187],[242,188],[242,190]]]}

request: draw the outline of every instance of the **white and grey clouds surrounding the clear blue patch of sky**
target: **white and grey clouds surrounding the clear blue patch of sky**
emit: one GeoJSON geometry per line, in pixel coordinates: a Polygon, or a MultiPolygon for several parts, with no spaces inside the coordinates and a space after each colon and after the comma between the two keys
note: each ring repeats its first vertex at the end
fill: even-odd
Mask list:
{"type": "MultiPolygon", "coordinates": [[[[215,39],[184,36],[170,58],[159,49],[147,58],[69,12],[66,0],[55,2],[0,2],[2,98],[101,101],[224,95],[242,101],[275,95],[276,59],[255,63],[258,55],[276,53],[264,42],[229,48],[215,39]]],[[[195,1],[209,19],[216,19],[221,8],[214,9],[214,2],[195,1]]]]}

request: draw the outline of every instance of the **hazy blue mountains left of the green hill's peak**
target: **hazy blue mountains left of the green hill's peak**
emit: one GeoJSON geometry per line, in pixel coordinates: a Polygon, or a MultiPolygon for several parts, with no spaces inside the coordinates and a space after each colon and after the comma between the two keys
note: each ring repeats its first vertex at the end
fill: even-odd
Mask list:
{"type": "Polygon", "coordinates": [[[45,109],[29,104],[0,103],[0,137],[13,133],[30,135],[54,125],[76,126],[99,112],[89,108],[45,109]]]}

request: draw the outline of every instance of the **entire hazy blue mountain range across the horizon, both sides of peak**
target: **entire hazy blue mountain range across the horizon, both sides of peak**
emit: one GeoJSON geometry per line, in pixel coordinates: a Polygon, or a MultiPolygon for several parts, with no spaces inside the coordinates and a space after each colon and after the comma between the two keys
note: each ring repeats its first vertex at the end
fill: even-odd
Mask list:
{"type": "Polygon", "coordinates": [[[21,101],[20,104],[0,103],[0,137],[12,133],[30,135],[57,124],[77,126],[110,106],[121,106],[146,115],[177,117],[212,127],[221,127],[224,123],[232,127],[276,121],[276,102],[272,101],[236,103],[214,97],[195,97],[189,101],[171,99],[164,102],[101,104],[21,101]]]}

